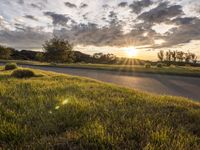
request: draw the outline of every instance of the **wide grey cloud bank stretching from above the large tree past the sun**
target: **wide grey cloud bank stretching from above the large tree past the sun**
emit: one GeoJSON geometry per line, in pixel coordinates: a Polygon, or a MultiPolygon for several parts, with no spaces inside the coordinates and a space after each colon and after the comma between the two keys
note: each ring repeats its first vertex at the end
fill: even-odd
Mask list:
{"type": "MultiPolygon", "coordinates": [[[[146,30],[133,29],[130,33],[124,34],[122,26],[110,24],[108,27],[98,27],[97,24],[78,24],[70,30],[54,30],[54,34],[72,41],[74,44],[96,45],[96,46],[127,46],[152,44],[151,36],[143,36],[146,30]]],[[[149,34],[156,34],[149,30],[149,34]]]]}

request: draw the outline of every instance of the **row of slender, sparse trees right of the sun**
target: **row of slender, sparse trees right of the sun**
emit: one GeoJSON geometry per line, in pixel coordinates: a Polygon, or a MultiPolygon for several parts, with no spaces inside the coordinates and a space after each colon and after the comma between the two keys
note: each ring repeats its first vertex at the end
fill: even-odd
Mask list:
{"type": "Polygon", "coordinates": [[[158,59],[161,62],[173,62],[173,63],[197,63],[197,56],[194,53],[191,52],[183,52],[183,51],[166,51],[164,52],[163,50],[159,51],[158,54],[158,59]]]}

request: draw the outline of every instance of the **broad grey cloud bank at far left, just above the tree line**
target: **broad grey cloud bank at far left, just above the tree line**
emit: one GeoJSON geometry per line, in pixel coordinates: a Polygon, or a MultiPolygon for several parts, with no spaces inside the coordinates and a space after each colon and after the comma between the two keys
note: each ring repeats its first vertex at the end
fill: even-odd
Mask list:
{"type": "Polygon", "coordinates": [[[51,33],[23,26],[21,26],[20,30],[15,31],[0,30],[1,43],[19,49],[38,48],[51,37],[51,33]]]}

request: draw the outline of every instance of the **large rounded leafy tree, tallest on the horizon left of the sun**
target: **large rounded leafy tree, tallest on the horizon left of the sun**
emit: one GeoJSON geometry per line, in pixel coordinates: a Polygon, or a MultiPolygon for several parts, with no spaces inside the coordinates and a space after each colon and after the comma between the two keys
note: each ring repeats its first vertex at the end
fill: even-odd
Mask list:
{"type": "Polygon", "coordinates": [[[67,40],[54,37],[43,45],[47,61],[73,62],[73,46],[67,40]]]}

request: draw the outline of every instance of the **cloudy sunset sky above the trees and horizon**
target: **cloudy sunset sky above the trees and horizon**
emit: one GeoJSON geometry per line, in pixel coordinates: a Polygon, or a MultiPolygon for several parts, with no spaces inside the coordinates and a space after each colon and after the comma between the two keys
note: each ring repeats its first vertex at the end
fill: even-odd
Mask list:
{"type": "Polygon", "coordinates": [[[0,44],[42,50],[55,35],[88,54],[134,50],[155,60],[170,49],[200,57],[200,0],[0,0],[0,44]]]}

